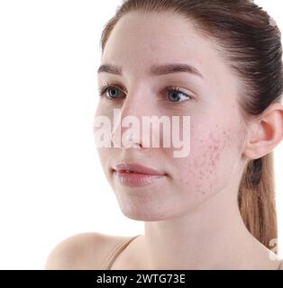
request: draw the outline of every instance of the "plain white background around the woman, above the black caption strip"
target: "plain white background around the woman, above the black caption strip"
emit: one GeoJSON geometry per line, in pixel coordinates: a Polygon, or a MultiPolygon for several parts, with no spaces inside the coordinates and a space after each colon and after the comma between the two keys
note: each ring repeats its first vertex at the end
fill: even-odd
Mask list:
{"type": "MultiPolygon", "coordinates": [[[[281,1],[256,3],[283,31],[281,1]]],[[[79,232],[142,233],[143,222],[120,211],[93,134],[99,40],[118,4],[0,0],[0,269],[43,269],[50,250],[79,232]]],[[[283,247],[282,159],[281,143],[283,247]]]]}

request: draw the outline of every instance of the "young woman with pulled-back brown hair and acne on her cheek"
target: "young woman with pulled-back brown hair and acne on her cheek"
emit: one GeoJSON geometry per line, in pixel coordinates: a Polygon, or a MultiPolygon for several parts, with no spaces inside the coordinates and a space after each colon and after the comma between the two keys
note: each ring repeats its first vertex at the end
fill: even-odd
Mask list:
{"type": "Polygon", "coordinates": [[[128,137],[132,146],[98,148],[123,214],[144,233],[75,235],[46,268],[283,269],[272,162],[283,138],[280,36],[248,0],[124,1],[102,34],[96,117],[114,122],[114,143],[128,116],[189,116],[189,153],[148,146],[156,127],[128,137]]]}

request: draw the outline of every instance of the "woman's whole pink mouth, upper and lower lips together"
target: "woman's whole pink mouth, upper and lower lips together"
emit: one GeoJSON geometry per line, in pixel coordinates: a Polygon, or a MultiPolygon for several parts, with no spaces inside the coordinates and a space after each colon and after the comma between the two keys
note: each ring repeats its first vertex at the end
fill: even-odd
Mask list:
{"type": "Polygon", "coordinates": [[[113,172],[120,184],[128,187],[146,186],[166,176],[151,167],[125,162],[114,166],[113,172]]]}

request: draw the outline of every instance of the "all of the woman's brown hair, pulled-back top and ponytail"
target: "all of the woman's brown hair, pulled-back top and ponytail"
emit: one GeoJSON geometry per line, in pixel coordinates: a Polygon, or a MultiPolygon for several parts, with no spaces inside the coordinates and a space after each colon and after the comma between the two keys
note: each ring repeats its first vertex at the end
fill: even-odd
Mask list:
{"type": "MultiPolygon", "coordinates": [[[[257,4],[249,0],[125,0],[105,24],[102,51],[115,24],[132,11],[180,14],[193,21],[206,38],[216,40],[220,55],[241,79],[243,119],[260,115],[271,103],[281,102],[281,33],[257,4]]],[[[278,237],[273,171],[273,151],[249,160],[238,193],[244,224],[266,247],[278,237]]]]}

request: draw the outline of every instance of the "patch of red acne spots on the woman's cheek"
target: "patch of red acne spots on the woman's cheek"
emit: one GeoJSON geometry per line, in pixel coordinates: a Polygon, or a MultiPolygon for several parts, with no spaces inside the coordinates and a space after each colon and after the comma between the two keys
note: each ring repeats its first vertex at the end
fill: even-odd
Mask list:
{"type": "Polygon", "coordinates": [[[179,160],[179,184],[197,195],[219,191],[229,164],[233,162],[231,130],[209,132],[208,136],[191,137],[187,158],[179,160]]]}

